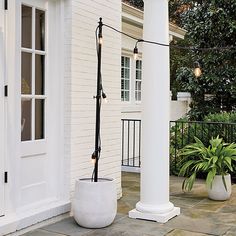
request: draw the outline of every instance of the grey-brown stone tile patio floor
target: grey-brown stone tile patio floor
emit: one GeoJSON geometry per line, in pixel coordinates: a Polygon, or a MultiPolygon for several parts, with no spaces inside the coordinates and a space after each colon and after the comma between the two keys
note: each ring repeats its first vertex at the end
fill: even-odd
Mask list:
{"type": "Polygon", "coordinates": [[[28,232],[24,236],[203,236],[236,235],[236,185],[231,199],[224,202],[207,198],[205,184],[199,180],[190,193],[181,190],[182,178],[170,177],[170,201],[181,208],[181,214],[166,224],[130,219],[129,210],[139,201],[137,173],[122,173],[123,197],[118,201],[114,223],[103,229],[79,227],[73,218],[28,232]]]}

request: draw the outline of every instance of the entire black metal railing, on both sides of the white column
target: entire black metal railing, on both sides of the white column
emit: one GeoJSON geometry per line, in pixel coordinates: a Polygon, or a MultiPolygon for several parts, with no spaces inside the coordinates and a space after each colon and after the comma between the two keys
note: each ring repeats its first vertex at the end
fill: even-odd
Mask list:
{"type": "MultiPolygon", "coordinates": [[[[122,119],[122,166],[140,167],[141,120],[122,119]]],[[[194,137],[208,145],[212,137],[219,135],[224,142],[236,142],[236,123],[171,121],[170,122],[170,172],[178,174],[180,150],[195,142],[194,137]]]]}

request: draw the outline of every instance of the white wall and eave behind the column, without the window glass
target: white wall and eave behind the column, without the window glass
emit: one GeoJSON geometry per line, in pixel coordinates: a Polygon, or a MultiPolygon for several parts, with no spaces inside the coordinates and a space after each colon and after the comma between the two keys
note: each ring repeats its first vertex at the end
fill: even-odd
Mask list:
{"type": "MultiPolygon", "coordinates": [[[[143,13],[133,7],[123,4],[122,31],[136,38],[143,38],[143,13]]],[[[170,40],[173,37],[183,38],[184,31],[172,24],[169,25],[170,40]],[[183,32],[182,32],[183,31],[183,32]]],[[[134,78],[135,69],[132,64],[133,49],[136,41],[122,35],[122,55],[131,58],[131,99],[129,102],[122,102],[122,119],[141,119],[141,104],[134,101],[134,78]]],[[[142,43],[138,44],[139,57],[142,58],[142,43]]],[[[179,101],[170,101],[170,120],[177,120],[186,115],[189,109],[190,100],[185,99],[184,94],[179,101]]],[[[154,108],[155,109],[155,108],[154,108]]]]}

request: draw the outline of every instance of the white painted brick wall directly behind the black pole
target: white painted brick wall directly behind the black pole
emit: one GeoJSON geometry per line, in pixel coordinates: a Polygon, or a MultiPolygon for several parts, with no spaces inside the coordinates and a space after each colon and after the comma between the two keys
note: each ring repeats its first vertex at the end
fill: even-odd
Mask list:
{"type": "MultiPolygon", "coordinates": [[[[65,149],[70,158],[70,188],[77,178],[91,177],[94,151],[97,58],[95,29],[99,17],[103,22],[121,28],[121,1],[72,0],[66,3],[65,58],[65,149]]],[[[102,152],[99,176],[117,181],[121,196],[120,162],[120,57],[121,36],[103,27],[102,78],[109,99],[102,107],[102,152]]]]}

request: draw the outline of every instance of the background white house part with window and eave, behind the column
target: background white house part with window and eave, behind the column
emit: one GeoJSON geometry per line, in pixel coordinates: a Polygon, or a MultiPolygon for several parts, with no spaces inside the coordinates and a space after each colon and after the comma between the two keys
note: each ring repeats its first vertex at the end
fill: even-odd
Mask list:
{"type": "MultiPolygon", "coordinates": [[[[138,10],[128,4],[122,4],[122,31],[132,35],[135,38],[143,38],[143,11],[138,10]]],[[[169,23],[169,40],[183,39],[186,31],[182,28],[169,23]]],[[[149,39],[151,40],[151,39],[149,39]]],[[[128,71],[124,83],[129,83],[128,89],[124,88],[126,97],[122,99],[122,118],[123,119],[141,119],[141,66],[142,63],[142,43],[138,44],[139,58],[136,62],[133,58],[133,49],[135,41],[122,35],[121,40],[122,57],[129,62],[129,66],[124,65],[124,70],[128,71]],[[137,65],[136,65],[137,63],[137,65]],[[127,93],[129,93],[127,95],[127,93]]],[[[123,59],[124,60],[124,59],[123,59]]],[[[121,89],[122,90],[122,89],[121,89]]],[[[176,120],[184,116],[189,109],[188,97],[171,101],[170,119],[176,120]]]]}

